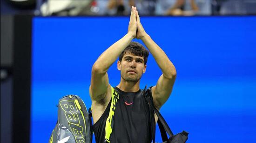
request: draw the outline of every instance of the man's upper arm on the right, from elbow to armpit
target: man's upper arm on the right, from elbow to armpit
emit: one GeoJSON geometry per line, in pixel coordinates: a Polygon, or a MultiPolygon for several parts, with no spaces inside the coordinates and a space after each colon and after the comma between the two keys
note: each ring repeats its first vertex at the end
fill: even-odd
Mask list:
{"type": "Polygon", "coordinates": [[[169,98],[172,88],[174,85],[175,76],[173,78],[166,78],[163,75],[158,79],[156,86],[152,87],[152,96],[155,106],[160,109],[160,107],[169,98]]]}

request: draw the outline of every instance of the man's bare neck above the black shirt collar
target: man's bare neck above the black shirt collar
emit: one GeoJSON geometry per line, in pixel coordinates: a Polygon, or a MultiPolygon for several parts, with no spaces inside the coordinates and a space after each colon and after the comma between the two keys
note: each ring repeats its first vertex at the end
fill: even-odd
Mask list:
{"type": "Polygon", "coordinates": [[[137,82],[130,82],[121,78],[119,85],[116,87],[124,92],[137,92],[140,90],[140,80],[137,82]]]}

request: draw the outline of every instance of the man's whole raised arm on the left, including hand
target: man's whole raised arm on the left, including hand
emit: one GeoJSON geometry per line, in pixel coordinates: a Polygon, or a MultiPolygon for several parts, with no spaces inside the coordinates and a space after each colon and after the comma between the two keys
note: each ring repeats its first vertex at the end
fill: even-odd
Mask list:
{"type": "MultiPolygon", "coordinates": [[[[132,7],[128,33],[120,40],[105,50],[94,62],[90,85],[90,97],[92,101],[102,101],[106,97],[108,87],[108,68],[115,62],[121,52],[128,46],[131,40],[136,37],[137,23],[135,7],[132,7]]],[[[109,97],[110,98],[110,97],[109,97]]]]}

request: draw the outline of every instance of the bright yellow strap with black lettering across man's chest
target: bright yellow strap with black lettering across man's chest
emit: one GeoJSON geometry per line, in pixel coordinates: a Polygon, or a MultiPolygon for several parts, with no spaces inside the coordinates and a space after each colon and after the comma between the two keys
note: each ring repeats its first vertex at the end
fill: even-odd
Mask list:
{"type": "Polygon", "coordinates": [[[119,94],[115,91],[113,87],[111,87],[111,106],[105,126],[105,143],[110,143],[110,135],[114,126],[115,106],[118,99],[119,94]]]}

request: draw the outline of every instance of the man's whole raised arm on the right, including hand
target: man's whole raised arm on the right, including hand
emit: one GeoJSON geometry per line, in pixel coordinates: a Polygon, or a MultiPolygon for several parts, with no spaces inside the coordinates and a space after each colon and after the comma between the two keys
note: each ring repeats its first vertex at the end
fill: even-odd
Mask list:
{"type": "Polygon", "coordinates": [[[143,41],[152,56],[155,58],[156,63],[162,70],[162,75],[158,79],[156,86],[152,87],[154,105],[156,108],[160,109],[160,107],[166,102],[172,92],[172,87],[176,77],[176,70],[164,51],[145,32],[141,25],[138,12],[136,12],[136,19],[138,29],[136,38],[139,38],[143,41]]]}

